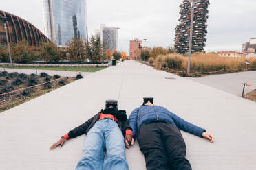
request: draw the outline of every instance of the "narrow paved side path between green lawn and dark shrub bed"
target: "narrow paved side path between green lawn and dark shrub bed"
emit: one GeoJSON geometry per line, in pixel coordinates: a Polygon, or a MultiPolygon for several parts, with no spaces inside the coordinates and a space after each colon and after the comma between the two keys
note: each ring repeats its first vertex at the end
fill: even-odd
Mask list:
{"type": "MultiPolygon", "coordinates": [[[[0,69],[0,71],[3,71],[3,68],[0,69]]],[[[18,73],[25,73],[25,74],[31,74],[34,73],[36,74],[35,69],[6,69],[8,73],[12,72],[18,72],[18,73]]],[[[52,70],[37,70],[37,74],[39,75],[40,73],[47,73],[48,75],[60,75],[61,77],[76,77],[78,75],[78,71],[52,71],[52,70]]],[[[81,75],[89,75],[89,72],[80,72],[81,75]]]]}

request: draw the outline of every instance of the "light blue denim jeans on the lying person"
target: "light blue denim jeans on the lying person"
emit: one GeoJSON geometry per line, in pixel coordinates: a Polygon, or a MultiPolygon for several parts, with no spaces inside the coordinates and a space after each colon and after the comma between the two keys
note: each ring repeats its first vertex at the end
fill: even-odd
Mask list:
{"type": "Polygon", "coordinates": [[[128,170],[125,143],[116,121],[97,121],[85,136],[83,158],[76,170],[128,170]],[[104,151],[106,150],[105,159],[104,151]]]}

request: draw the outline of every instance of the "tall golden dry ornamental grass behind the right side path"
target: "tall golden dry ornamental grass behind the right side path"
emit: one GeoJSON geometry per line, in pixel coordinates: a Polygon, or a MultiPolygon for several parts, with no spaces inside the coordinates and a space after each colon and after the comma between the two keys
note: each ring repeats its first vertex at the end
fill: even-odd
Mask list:
{"type": "MultiPolygon", "coordinates": [[[[226,69],[226,71],[242,69],[256,69],[256,58],[246,60],[250,65],[245,64],[242,58],[221,57],[214,53],[194,53],[191,55],[191,72],[211,72],[226,69]]],[[[188,57],[171,53],[166,56],[159,55],[155,59],[155,69],[168,67],[177,71],[186,71],[188,57]]]]}

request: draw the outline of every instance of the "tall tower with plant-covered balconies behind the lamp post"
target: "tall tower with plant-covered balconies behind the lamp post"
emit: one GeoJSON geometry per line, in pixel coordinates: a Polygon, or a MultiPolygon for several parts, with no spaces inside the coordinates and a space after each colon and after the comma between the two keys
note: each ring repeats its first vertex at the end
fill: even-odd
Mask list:
{"type": "MultiPolygon", "coordinates": [[[[204,51],[208,19],[209,0],[194,0],[193,35],[191,53],[204,51]]],[[[189,34],[192,1],[184,0],[180,5],[180,24],[175,28],[175,49],[177,53],[189,52],[189,34]]]]}

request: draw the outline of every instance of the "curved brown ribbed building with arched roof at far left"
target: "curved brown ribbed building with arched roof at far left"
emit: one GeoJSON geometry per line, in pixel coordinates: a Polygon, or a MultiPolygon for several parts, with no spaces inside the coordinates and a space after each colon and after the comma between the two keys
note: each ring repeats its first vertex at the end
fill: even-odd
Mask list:
{"type": "Polygon", "coordinates": [[[0,45],[7,45],[5,25],[10,43],[24,40],[29,45],[39,46],[40,42],[50,42],[47,36],[25,19],[0,10],[0,45]]]}

